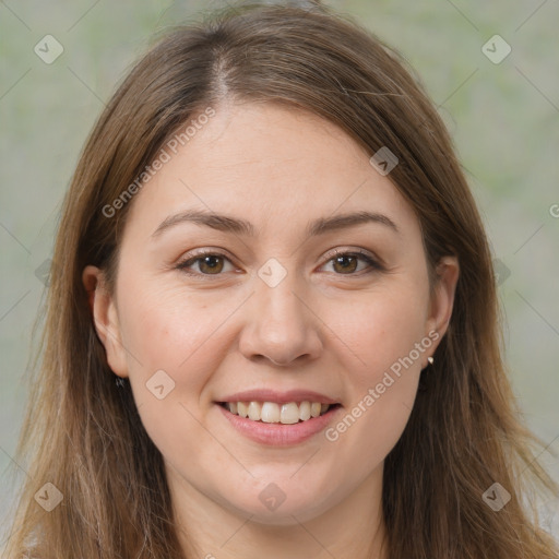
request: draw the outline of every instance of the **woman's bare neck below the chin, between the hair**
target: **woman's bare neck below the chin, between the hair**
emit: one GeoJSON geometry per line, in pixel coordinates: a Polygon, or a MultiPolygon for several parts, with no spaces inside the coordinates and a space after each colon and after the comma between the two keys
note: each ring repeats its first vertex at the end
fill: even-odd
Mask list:
{"type": "Polygon", "coordinates": [[[382,464],[330,509],[308,520],[283,515],[275,524],[216,502],[171,467],[167,478],[179,540],[189,559],[388,559],[382,545],[382,464]]]}

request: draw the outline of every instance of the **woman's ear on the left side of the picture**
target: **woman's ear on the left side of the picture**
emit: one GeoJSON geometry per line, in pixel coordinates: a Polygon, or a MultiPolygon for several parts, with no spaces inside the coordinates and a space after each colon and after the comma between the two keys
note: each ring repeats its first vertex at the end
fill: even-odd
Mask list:
{"type": "Polygon", "coordinates": [[[117,306],[107,289],[105,275],[98,267],[88,265],[82,273],[82,282],[88,293],[95,330],[105,346],[107,362],[115,374],[126,378],[128,377],[128,366],[121,341],[117,306]]]}

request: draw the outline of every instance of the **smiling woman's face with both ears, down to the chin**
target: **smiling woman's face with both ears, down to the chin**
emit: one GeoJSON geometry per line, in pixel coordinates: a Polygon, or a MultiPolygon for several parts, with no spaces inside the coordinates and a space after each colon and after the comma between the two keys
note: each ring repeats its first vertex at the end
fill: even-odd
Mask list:
{"type": "Polygon", "coordinates": [[[379,488],[457,266],[445,259],[430,298],[411,205],[333,124],[215,110],[130,202],[95,322],[176,490],[302,522],[379,488]],[[333,405],[309,419],[319,404],[333,405]]]}

